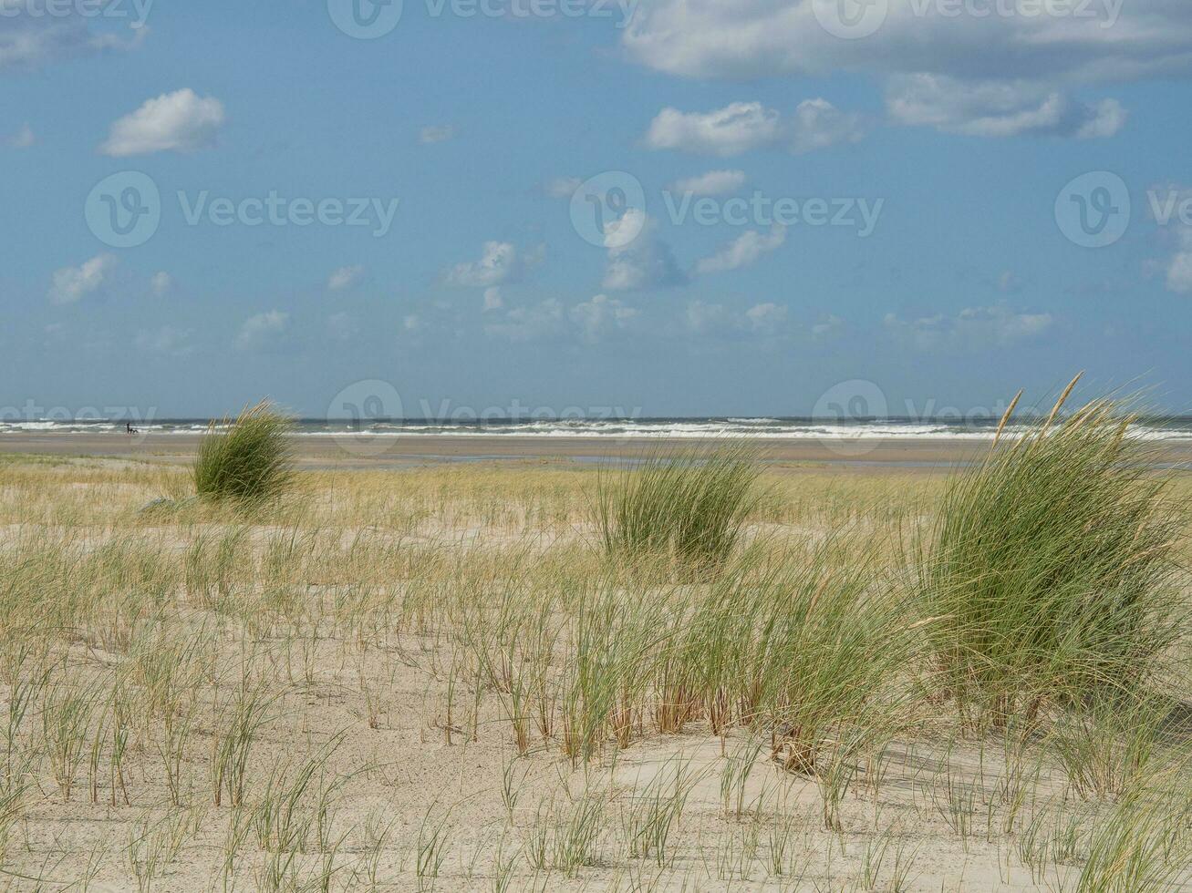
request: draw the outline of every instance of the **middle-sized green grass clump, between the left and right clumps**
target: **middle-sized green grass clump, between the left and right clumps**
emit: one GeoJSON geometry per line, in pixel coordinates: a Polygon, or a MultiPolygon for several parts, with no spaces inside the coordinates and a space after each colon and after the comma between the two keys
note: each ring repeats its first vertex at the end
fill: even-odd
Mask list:
{"type": "Polygon", "coordinates": [[[722,563],[758,502],[755,458],[747,447],[656,452],[637,467],[602,474],[596,514],[606,552],[722,563]]]}

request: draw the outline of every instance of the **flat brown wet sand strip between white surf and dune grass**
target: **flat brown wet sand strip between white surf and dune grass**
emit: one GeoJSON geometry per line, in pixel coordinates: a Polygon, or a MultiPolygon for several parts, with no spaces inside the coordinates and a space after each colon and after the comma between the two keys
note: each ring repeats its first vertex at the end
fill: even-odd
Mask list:
{"type": "MultiPolygon", "coordinates": [[[[149,462],[188,462],[199,435],[125,435],[21,432],[0,436],[0,454],[94,456],[149,462]]],[[[294,437],[294,455],[303,468],[405,468],[436,462],[564,461],[594,463],[633,458],[662,444],[657,441],[592,437],[294,437]]],[[[699,439],[672,441],[666,449],[697,447],[699,439]]],[[[775,466],[840,467],[852,470],[939,470],[983,455],[988,441],[924,438],[882,441],[757,439],[750,441],[775,466]]],[[[1192,469],[1192,443],[1171,443],[1161,449],[1162,464],[1192,469]]]]}

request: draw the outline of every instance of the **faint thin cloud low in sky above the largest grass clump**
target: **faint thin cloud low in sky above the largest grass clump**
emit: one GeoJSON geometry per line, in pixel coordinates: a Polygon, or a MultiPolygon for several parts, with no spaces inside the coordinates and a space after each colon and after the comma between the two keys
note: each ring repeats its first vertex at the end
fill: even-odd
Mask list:
{"type": "Polygon", "coordinates": [[[957,316],[904,320],[886,316],[886,329],[919,350],[988,350],[1030,341],[1055,323],[1050,313],[1016,313],[1005,305],[968,307],[957,316]]]}

